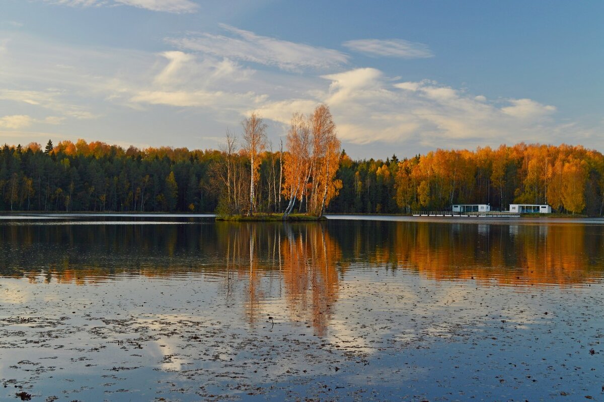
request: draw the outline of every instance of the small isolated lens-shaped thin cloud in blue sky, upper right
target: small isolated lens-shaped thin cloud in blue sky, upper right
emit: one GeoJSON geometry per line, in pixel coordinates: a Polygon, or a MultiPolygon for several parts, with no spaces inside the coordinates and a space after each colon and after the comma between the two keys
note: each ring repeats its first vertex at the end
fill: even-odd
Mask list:
{"type": "Polygon", "coordinates": [[[344,46],[370,56],[402,57],[404,59],[434,57],[428,45],[403,39],[358,39],[344,42],[344,46]]]}

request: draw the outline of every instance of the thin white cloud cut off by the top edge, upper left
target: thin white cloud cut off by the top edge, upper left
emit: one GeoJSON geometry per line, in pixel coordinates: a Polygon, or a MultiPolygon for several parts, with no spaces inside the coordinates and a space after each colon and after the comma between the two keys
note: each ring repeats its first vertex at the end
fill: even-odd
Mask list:
{"type": "Polygon", "coordinates": [[[69,7],[100,7],[103,5],[130,5],[151,11],[165,13],[194,13],[199,5],[191,0],[43,0],[50,4],[66,5],[69,7]]]}

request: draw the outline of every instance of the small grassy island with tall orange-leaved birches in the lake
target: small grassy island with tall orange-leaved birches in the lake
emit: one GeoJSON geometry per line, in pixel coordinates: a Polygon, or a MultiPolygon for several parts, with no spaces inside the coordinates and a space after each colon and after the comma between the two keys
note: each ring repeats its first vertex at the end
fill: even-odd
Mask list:
{"type": "Polygon", "coordinates": [[[324,219],[323,213],[326,207],[342,188],[342,181],[336,179],[341,158],[341,143],[336,135],[336,125],[333,123],[329,107],[318,105],[309,115],[294,113],[286,138],[285,154],[281,144],[280,155],[283,155],[283,161],[280,160],[279,163],[278,179],[275,161],[271,158],[266,199],[259,199],[257,187],[262,164],[260,154],[267,146],[267,126],[255,113],[243,120],[242,126],[242,154],[249,160],[249,170],[242,164],[234,163],[236,138],[227,132],[223,147],[226,157],[222,164],[217,165],[214,172],[225,185],[226,190],[220,195],[216,219],[219,221],[324,219]],[[249,186],[245,183],[249,183],[249,186]],[[284,212],[280,213],[277,209],[281,205],[282,196],[288,202],[284,212]],[[257,210],[260,205],[265,208],[259,214],[257,210]],[[293,213],[296,206],[298,213],[293,213]]]}

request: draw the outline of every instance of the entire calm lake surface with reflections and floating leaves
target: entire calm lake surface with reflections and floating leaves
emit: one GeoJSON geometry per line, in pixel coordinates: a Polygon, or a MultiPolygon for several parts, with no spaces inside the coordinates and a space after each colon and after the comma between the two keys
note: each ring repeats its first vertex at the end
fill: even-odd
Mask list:
{"type": "Polygon", "coordinates": [[[603,221],[381,219],[3,217],[0,400],[604,400],[603,221]]]}

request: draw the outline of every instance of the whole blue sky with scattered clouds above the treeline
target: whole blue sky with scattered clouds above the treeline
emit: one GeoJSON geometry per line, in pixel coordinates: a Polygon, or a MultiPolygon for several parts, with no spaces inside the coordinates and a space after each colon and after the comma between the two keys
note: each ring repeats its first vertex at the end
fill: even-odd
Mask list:
{"type": "Polygon", "coordinates": [[[0,141],[278,148],[330,106],[355,158],[604,150],[604,2],[0,0],[0,141]]]}

